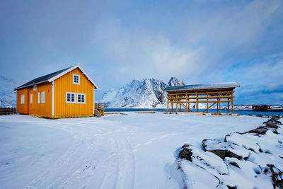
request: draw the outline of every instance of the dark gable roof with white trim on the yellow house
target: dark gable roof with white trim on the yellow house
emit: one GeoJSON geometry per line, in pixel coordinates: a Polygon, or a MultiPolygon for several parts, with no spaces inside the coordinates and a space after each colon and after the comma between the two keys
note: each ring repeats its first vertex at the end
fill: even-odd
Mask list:
{"type": "Polygon", "coordinates": [[[83,72],[83,74],[86,75],[88,80],[91,81],[91,83],[96,88],[98,88],[98,86],[92,81],[92,79],[88,76],[88,74],[86,74],[86,72],[79,66],[79,64],[76,64],[73,67],[68,67],[68,68],[65,68],[65,69],[62,69],[62,70],[59,70],[59,71],[55,71],[55,72],[53,72],[51,74],[47,74],[45,76],[37,77],[37,78],[35,78],[35,79],[31,80],[31,81],[28,81],[27,83],[25,83],[25,84],[23,84],[21,86],[18,86],[14,90],[18,90],[18,89],[21,89],[21,88],[26,88],[28,86],[33,86],[33,85],[36,85],[36,84],[42,84],[42,83],[45,83],[45,82],[54,81],[55,79],[59,78],[60,76],[63,76],[64,74],[67,74],[69,71],[72,71],[73,69],[76,69],[76,68],[81,69],[81,71],[83,72]]]}

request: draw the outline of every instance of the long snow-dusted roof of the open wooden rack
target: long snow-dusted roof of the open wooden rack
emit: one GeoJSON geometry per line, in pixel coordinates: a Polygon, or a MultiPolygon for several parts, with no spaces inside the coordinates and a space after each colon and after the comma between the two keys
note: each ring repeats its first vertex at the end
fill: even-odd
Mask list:
{"type": "Polygon", "coordinates": [[[192,90],[202,90],[202,89],[213,89],[213,88],[235,88],[240,87],[237,82],[226,82],[218,84],[198,84],[198,85],[188,85],[188,86],[167,86],[164,91],[192,91],[192,90]]]}

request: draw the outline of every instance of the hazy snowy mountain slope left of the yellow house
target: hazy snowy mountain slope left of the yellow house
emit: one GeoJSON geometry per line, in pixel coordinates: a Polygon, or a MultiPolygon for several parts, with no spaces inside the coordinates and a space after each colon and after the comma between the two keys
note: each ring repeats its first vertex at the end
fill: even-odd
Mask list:
{"type": "Polygon", "coordinates": [[[0,75],[0,107],[16,107],[16,91],[13,79],[0,75]]]}

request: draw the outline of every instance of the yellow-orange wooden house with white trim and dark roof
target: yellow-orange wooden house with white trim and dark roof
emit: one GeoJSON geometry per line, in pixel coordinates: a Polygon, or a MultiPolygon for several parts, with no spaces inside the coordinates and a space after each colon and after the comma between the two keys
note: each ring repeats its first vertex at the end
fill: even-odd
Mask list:
{"type": "Polygon", "coordinates": [[[96,88],[86,71],[76,64],[15,88],[17,113],[42,118],[91,117],[96,88]]]}

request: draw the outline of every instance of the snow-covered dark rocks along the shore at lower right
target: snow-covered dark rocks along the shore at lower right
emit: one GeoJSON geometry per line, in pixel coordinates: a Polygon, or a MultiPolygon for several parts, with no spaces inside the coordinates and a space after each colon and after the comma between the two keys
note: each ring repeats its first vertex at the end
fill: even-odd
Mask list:
{"type": "Polygon", "coordinates": [[[283,188],[282,116],[247,132],[184,144],[176,151],[173,177],[180,188],[283,188]]]}

